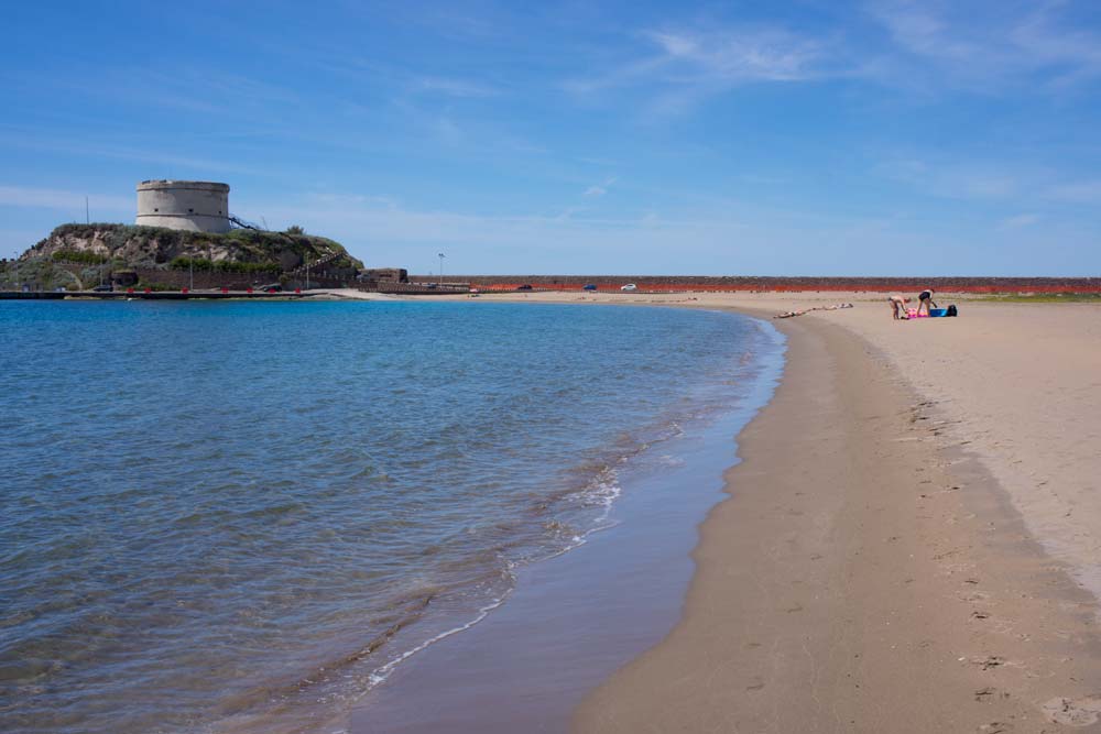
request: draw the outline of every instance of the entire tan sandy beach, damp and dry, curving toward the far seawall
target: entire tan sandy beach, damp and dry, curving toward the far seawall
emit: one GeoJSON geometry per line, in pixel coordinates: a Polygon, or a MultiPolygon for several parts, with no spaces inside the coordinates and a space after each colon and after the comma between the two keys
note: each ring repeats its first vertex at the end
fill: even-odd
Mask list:
{"type": "Polygon", "coordinates": [[[576,731],[1101,730],[1101,308],[896,322],[873,294],[509,298],[854,304],[776,322],[788,370],[739,438],[684,617],[576,731]]]}

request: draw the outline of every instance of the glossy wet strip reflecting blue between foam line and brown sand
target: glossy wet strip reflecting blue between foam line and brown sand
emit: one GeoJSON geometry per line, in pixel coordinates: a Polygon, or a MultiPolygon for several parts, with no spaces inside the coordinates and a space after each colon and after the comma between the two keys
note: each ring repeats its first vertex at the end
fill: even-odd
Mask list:
{"type": "Polygon", "coordinates": [[[395,668],[357,704],[351,732],[566,731],[589,690],[672,628],[698,524],[738,461],[733,437],[767,404],[784,364],[771,324],[720,318],[760,330],[745,342],[755,358],[733,368],[744,374],[737,402],[618,467],[621,492],[603,528],[517,569],[508,603],[395,668]]]}

